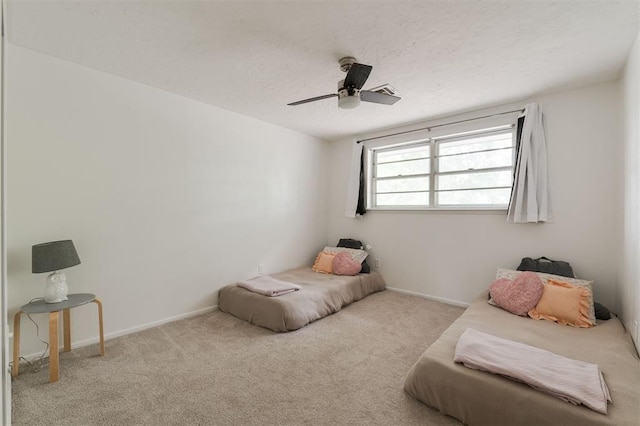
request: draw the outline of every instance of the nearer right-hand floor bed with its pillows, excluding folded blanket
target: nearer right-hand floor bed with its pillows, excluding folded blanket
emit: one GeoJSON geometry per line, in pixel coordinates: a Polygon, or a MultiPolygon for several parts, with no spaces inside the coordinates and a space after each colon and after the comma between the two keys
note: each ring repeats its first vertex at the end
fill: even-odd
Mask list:
{"type": "MultiPolygon", "coordinates": [[[[542,294],[533,295],[538,301],[529,309],[529,315],[523,316],[512,311],[526,309],[522,299],[531,298],[537,290],[520,288],[520,300],[510,299],[509,292],[512,296],[515,292],[509,286],[513,287],[520,274],[498,271],[495,286],[491,288],[492,299],[495,295],[498,300],[491,300],[490,304],[488,292],[480,295],[420,356],[406,376],[405,390],[469,425],[637,425],[640,360],[629,333],[616,317],[596,320],[591,282],[536,274],[544,288],[542,294]],[[571,298],[573,302],[569,301],[571,298]],[[454,362],[459,342],[469,330],[596,364],[612,401],[608,404],[605,401],[606,414],[585,405],[571,404],[502,375],[454,362]]],[[[520,357],[518,362],[522,359],[526,366],[529,361],[526,358],[520,357]]],[[[557,376],[570,378],[568,373],[557,376]]]]}

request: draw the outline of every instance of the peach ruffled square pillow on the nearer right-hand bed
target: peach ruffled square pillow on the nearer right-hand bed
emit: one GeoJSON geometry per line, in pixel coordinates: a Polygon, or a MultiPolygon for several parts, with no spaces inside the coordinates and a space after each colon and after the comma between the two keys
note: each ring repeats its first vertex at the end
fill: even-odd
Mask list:
{"type": "Polygon", "coordinates": [[[556,280],[548,280],[542,297],[529,311],[533,319],[546,319],[573,327],[589,328],[589,290],[556,280]]]}

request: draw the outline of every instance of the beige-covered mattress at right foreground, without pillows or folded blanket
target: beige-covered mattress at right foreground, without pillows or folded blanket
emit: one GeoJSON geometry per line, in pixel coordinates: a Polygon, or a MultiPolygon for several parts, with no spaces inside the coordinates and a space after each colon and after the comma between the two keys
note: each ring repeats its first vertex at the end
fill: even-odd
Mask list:
{"type": "Polygon", "coordinates": [[[589,329],[512,315],[478,297],[409,370],[405,390],[469,425],[638,425],[640,360],[621,322],[613,317],[589,329]],[[603,415],[529,386],[453,362],[467,328],[598,364],[611,392],[603,415]]]}

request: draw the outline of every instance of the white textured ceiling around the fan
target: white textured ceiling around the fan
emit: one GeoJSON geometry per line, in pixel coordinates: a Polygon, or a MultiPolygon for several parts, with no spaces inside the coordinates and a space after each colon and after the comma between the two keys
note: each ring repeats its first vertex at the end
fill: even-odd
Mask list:
{"type": "Polygon", "coordinates": [[[637,0],[9,0],[8,41],[324,139],[617,78],[637,0]],[[393,106],[340,110],[338,59],[393,106]]]}

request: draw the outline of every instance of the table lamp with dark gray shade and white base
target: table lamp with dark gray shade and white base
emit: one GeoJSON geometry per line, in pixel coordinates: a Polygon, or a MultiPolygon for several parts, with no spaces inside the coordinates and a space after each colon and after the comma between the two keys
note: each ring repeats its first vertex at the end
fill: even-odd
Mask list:
{"type": "Polygon", "coordinates": [[[58,271],[79,264],[80,258],[71,240],[52,241],[31,247],[31,272],[52,272],[47,276],[45,302],[60,303],[67,300],[67,277],[58,271]]]}

